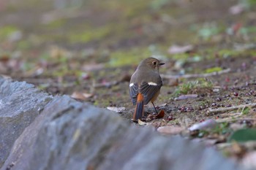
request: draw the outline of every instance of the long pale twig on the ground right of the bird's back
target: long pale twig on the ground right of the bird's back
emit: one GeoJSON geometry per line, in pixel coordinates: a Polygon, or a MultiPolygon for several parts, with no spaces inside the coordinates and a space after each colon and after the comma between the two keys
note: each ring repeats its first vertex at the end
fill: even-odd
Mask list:
{"type": "Polygon", "coordinates": [[[230,72],[231,69],[224,69],[219,72],[205,73],[205,74],[184,74],[184,75],[170,75],[170,74],[161,74],[161,77],[164,79],[178,79],[178,78],[198,78],[198,77],[211,77],[217,76],[219,74],[225,74],[230,72]]]}

